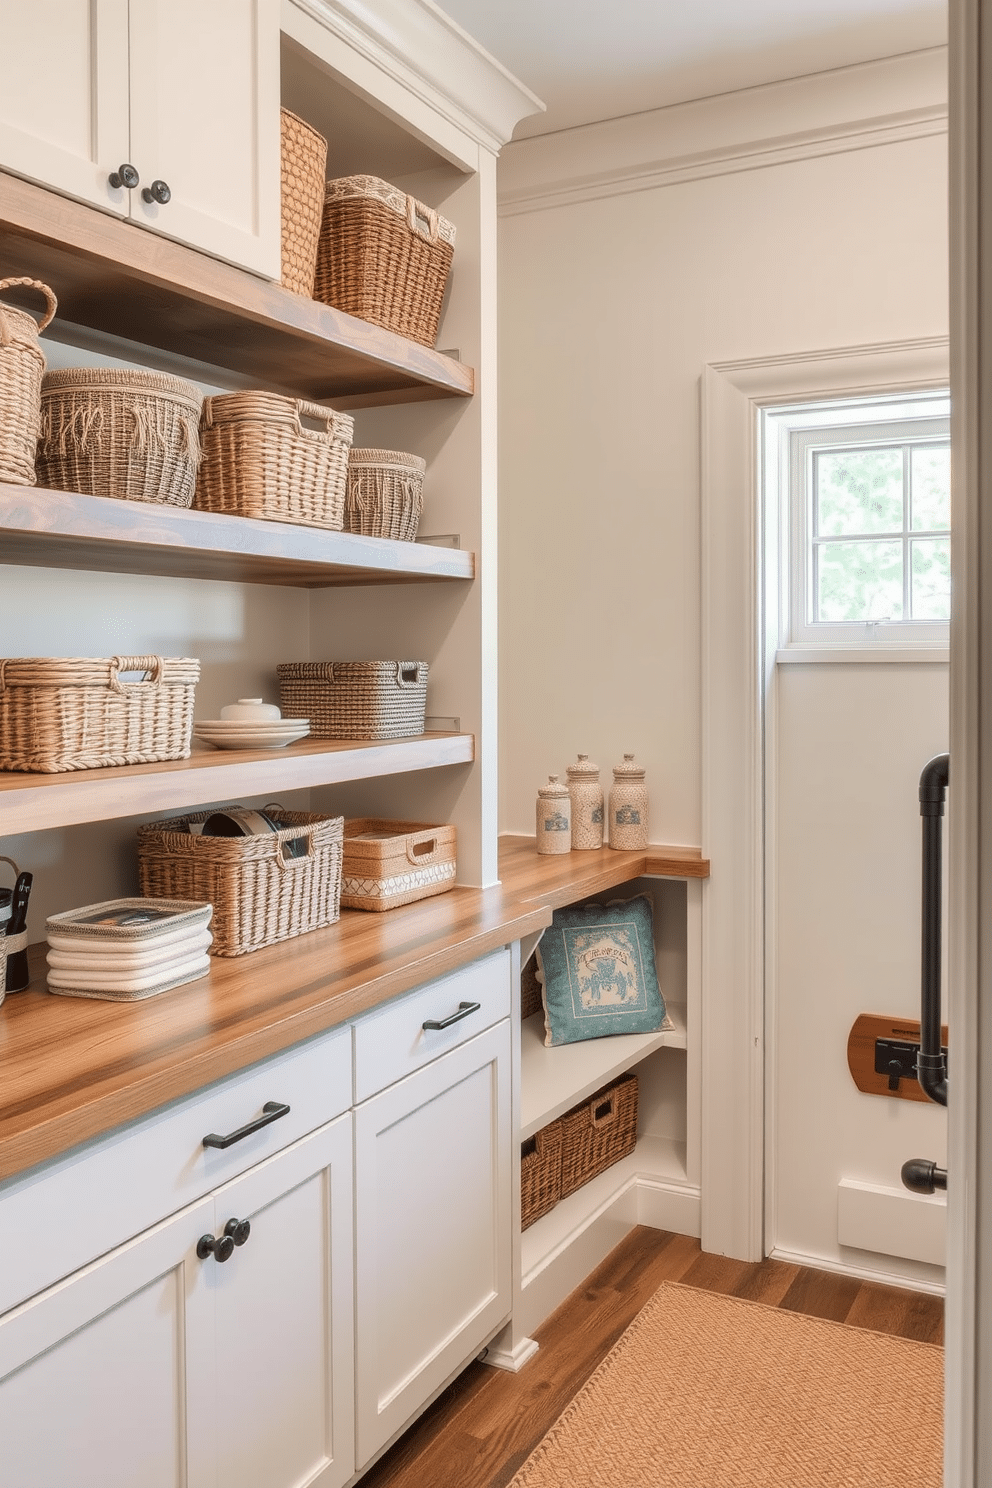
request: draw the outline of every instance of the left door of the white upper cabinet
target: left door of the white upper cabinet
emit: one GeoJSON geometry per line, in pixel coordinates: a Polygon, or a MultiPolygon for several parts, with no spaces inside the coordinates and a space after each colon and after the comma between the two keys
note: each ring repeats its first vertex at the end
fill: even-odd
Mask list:
{"type": "Polygon", "coordinates": [[[0,0],[0,168],[128,213],[128,0],[0,0]]]}

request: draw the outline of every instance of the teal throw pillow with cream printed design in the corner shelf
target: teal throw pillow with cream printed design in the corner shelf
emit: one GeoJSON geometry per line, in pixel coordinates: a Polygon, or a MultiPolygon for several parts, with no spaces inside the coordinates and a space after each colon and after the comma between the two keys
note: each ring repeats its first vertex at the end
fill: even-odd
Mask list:
{"type": "Polygon", "coordinates": [[[537,963],[549,1048],[674,1027],[657,985],[647,894],[556,909],[537,963]]]}

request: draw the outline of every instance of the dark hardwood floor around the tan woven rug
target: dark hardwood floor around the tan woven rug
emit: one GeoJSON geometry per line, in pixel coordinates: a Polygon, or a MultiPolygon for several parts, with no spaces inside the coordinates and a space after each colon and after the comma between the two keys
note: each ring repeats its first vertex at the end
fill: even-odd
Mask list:
{"type": "Polygon", "coordinates": [[[727,1260],[668,1231],[632,1231],[537,1332],[519,1375],[473,1363],[361,1488],[504,1488],[662,1281],[943,1342],[943,1301],[781,1260],[727,1260]]]}

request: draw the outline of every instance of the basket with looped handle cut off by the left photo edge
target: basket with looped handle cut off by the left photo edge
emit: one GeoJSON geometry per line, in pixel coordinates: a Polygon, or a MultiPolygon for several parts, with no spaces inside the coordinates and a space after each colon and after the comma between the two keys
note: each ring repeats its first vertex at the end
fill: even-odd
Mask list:
{"type": "Polygon", "coordinates": [[[40,280],[0,280],[0,292],[25,284],[39,289],[48,311],[39,324],[24,310],[0,305],[0,481],[34,485],[34,455],[42,430],[45,353],[39,333],[51,324],[57,304],[40,280]]]}

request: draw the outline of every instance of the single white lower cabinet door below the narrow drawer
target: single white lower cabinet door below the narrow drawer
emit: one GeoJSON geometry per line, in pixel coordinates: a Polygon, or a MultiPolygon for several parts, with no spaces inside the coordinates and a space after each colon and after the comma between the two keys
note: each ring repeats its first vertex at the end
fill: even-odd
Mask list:
{"type": "Polygon", "coordinates": [[[510,1311],[510,1025],[355,1109],[364,1466],[510,1311]]]}

